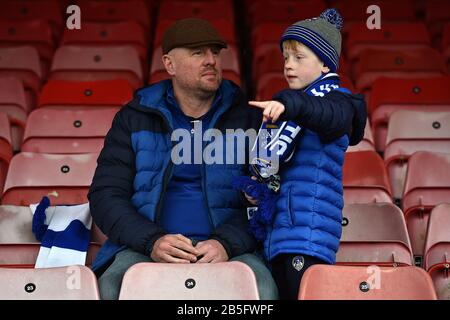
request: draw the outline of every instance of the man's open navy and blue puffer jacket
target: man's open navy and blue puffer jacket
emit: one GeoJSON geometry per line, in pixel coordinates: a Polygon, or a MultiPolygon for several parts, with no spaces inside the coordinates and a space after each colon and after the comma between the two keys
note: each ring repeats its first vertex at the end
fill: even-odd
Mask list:
{"type": "MultiPolygon", "coordinates": [[[[88,195],[93,220],[108,237],[93,264],[97,273],[127,247],[150,256],[154,242],[166,234],[159,215],[173,166],[172,116],[166,107],[171,86],[166,80],[137,91],[106,136],[88,195]]],[[[235,84],[224,80],[219,90],[222,100],[212,127],[225,136],[226,129],[259,126],[261,116],[248,107],[235,84]]],[[[246,173],[246,164],[203,165],[202,189],[213,226],[210,239],[220,241],[230,258],[256,245],[242,194],[231,184],[233,176],[246,173]]]]}

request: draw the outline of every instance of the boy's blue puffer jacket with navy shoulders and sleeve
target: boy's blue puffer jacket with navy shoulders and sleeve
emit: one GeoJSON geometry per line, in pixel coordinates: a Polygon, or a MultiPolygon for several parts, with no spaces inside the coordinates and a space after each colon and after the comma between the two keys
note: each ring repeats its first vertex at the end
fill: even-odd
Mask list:
{"type": "Polygon", "coordinates": [[[295,120],[303,130],[294,157],[280,171],[277,214],[264,243],[266,257],[298,253],[334,264],[344,206],[344,153],[349,142],[354,145],[363,138],[364,98],[339,91],[314,97],[285,90],[274,99],[286,107],[281,120],[295,120]]]}

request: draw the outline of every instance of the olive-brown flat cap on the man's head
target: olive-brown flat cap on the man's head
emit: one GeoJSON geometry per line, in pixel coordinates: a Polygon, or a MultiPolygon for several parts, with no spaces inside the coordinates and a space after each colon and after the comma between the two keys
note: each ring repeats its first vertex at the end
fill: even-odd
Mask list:
{"type": "Polygon", "coordinates": [[[193,48],[205,45],[227,47],[227,43],[219,32],[208,21],[194,18],[178,20],[167,28],[161,45],[163,54],[174,48],[193,48]]]}

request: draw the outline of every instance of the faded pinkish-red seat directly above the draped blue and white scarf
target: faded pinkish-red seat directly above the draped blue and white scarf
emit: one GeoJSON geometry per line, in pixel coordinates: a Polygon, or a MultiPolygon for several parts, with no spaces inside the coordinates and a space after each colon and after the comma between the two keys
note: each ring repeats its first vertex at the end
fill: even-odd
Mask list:
{"type": "Polygon", "coordinates": [[[29,205],[49,195],[51,203],[86,203],[98,154],[22,152],[9,165],[2,204],[29,205]]]}

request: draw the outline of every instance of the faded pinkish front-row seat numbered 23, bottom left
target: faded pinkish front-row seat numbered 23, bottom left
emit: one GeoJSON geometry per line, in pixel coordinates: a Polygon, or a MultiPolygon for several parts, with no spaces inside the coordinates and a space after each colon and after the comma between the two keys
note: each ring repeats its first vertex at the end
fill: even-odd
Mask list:
{"type": "Polygon", "coordinates": [[[2,300],[100,300],[95,274],[85,266],[2,268],[0,287],[2,300]]]}

